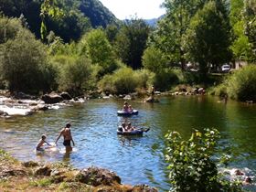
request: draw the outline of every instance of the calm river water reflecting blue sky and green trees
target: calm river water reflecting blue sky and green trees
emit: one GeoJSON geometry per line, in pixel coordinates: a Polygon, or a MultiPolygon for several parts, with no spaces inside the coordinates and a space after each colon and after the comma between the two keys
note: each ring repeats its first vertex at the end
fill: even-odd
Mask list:
{"type": "Polygon", "coordinates": [[[32,116],[0,120],[0,146],[22,161],[65,161],[84,168],[97,165],[122,177],[124,184],[147,184],[160,191],[169,189],[163,151],[164,136],[175,130],[187,138],[193,128],[216,127],[222,138],[220,148],[234,156],[230,167],[256,169],[256,106],[204,96],[161,98],[159,103],[131,101],[138,115],[117,116],[123,101],[91,100],[32,116]],[[123,121],[150,128],[143,137],[116,134],[123,121]],[[72,124],[74,152],[65,155],[62,138],[59,151],[34,153],[42,133],[54,142],[65,123],[72,124]]]}

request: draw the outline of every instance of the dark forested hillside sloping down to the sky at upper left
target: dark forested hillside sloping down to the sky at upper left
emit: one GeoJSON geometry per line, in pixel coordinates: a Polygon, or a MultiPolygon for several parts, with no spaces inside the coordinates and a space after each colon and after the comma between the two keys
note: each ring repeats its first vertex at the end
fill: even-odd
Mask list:
{"type": "MultiPolygon", "coordinates": [[[[40,37],[40,6],[43,0],[0,0],[0,12],[5,16],[24,16],[24,24],[40,37]],[[26,24],[27,23],[27,24],[26,24]]],[[[91,27],[106,27],[117,23],[117,18],[99,0],[56,0],[64,16],[47,19],[50,30],[68,42],[76,40],[91,27]]]]}

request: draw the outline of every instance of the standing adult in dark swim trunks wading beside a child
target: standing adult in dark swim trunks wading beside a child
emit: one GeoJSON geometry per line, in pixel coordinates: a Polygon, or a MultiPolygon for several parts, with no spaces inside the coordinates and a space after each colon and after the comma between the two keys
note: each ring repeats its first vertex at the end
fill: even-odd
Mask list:
{"type": "Polygon", "coordinates": [[[63,145],[66,147],[66,152],[72,151],[71,142],[73,143],[73,146],[75,146],[75,143],[72,138],[71,130],[70,130],[70,123],[67,123],[66,126],[59,132],[59,136],[56,139],[55,144],[57,144],[60,136],[63,136],[64,142],[63,145]]]}

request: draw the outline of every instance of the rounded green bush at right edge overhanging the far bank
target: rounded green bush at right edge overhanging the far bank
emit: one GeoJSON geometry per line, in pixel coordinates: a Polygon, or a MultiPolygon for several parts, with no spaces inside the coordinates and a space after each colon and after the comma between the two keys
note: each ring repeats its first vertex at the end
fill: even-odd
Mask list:
{"type": "Polygon", "coordinates": [[[256,66],[249,65],[235,71],[225,85],[229,97],[239,101],[256,101],[256,66]]]}

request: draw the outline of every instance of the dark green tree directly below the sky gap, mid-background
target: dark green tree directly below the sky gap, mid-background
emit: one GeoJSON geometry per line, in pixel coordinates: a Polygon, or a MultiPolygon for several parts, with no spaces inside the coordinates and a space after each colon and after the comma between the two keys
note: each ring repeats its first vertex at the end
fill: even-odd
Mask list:
{"type": "Polygon", "coordinates": [[[133,69],[142,67],[142,56],[149,32],[150,27],[143,19],[132,18],[124,21],[116,36],[114,47],[117,56],[133,69]]]}

